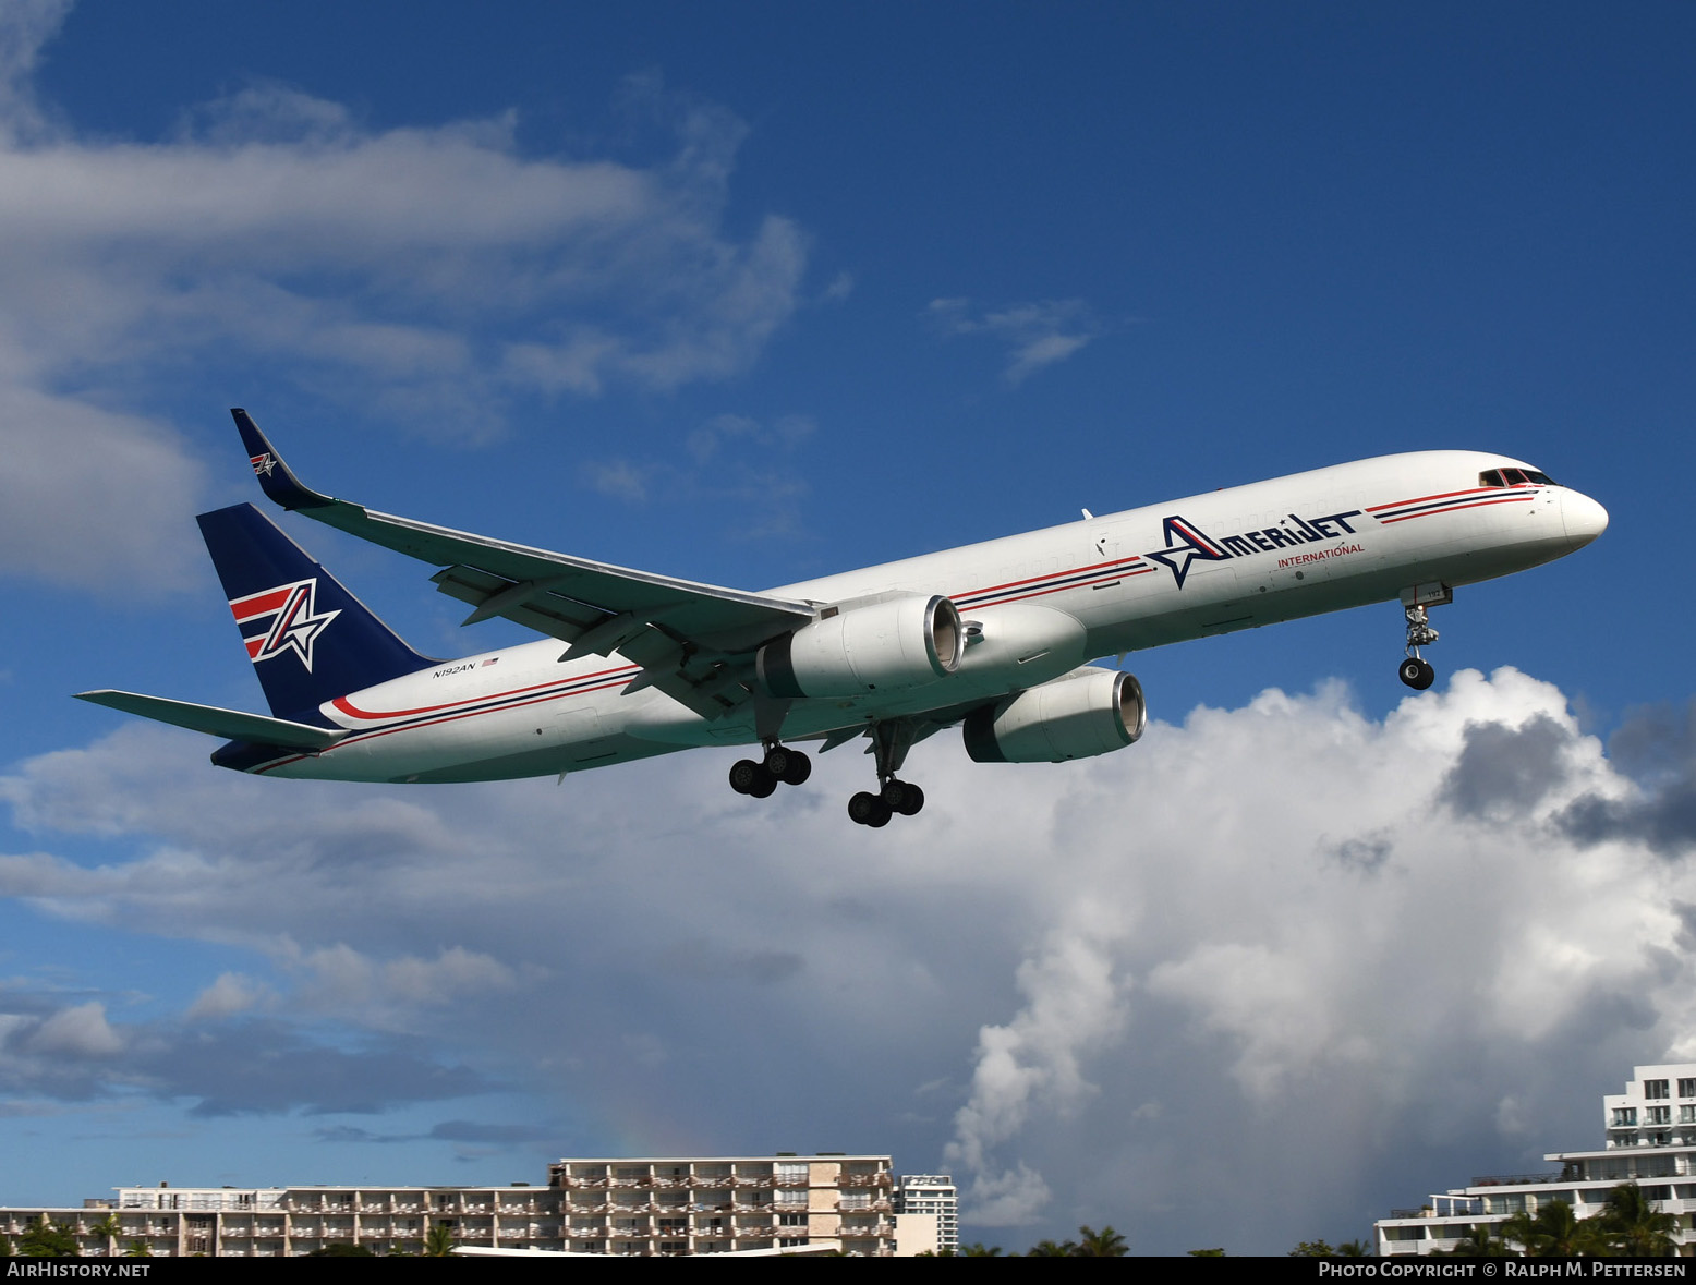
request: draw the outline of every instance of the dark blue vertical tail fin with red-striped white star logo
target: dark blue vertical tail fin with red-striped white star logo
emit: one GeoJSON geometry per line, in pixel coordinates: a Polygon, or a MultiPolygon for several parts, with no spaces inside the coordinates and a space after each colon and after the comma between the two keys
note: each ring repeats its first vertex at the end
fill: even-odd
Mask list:
{"type": "Polygon", "coordinates": [[[278,719],[322,722],[326,700],[436,665],[251,503],[195,520],[278,719]]]}

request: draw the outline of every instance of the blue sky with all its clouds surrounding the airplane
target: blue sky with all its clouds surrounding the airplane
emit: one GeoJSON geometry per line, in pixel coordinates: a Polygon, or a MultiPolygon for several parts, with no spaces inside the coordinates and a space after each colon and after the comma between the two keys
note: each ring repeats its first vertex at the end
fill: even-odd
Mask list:
{"type": "MultiPolygon", "coordinates": [[[[1593,1144],[1696,1058],[1693,36],[7,3],[0,1199],[846,1148],[968,1236],[1280,1251],[1593,1144]],[[258,709],[192,520],[254,498],[231,405],[339,495],[748,588],[1421,448],[1613,526],[1442,609],[1426,697],[1389,605],[1135,656],[1140,746],[938,737],[899,834],[850,754],[758,812],[712,754],[246,782],[68,700],[258,709]]],[[[521,636],[290,531],[426,651],[521,636]]]]}

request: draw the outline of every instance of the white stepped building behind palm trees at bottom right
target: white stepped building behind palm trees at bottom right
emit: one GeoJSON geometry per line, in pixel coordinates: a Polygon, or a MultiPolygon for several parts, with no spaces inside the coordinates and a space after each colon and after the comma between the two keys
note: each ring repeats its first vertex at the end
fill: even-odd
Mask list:
{"type": "Polygon", "coordinates": [[[1430,1254],[1452,1249],[1481,1222],[1537,1214],[1564,1200],[1581,1219],[1603,1210],[1608,1192],[1635,1182],[1664,1214],[1677,1219],[1681,1256],[1696,1256],[1696,1063],[1637,1066],[1623,1093],[1603,1097],[1601,1151],[1555,1151],[1543,1160],[1550,1173],[1509,1173],[1474,1178],[1426,1197],[1421,1209],[1398,1209],[1374,1224],[1377,1251],[1430,1254]]]}

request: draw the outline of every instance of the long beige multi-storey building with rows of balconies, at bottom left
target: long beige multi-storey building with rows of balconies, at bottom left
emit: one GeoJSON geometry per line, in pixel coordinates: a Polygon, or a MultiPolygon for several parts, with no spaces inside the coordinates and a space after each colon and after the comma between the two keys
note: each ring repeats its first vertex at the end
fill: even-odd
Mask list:
{"type": "Polygon", "coordinates": [[[546,1187],[119,1187],[80,1209],[0,1209],[0,1232],[15,1241],[46,1217],[86,1256],[136,1241],[159,1258],[282,1258],[336,1243],[419,1253],[441,1224],[460,1244],[495,1249],[889,1258],[892,1188],[889,1156],[561,1160],[546,1187]]]}

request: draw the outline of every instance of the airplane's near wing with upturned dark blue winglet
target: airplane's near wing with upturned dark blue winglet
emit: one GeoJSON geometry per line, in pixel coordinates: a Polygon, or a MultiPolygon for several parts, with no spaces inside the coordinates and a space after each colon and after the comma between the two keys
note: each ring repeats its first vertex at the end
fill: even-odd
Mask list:
{"type": "Polygon", "coordinates": [[[561,659],[617,651],[643,666],[636,687],[658,687],[704,717],[748,698],[739,680],[762,642],[816,615],[806,602],[633,571],[336,500],[305,487],[246,410],[231,415],[259,487],[283,509],[441,566],[436,587],[473,607],[465,624],[502,615],[568,642],[561,659]]]}

